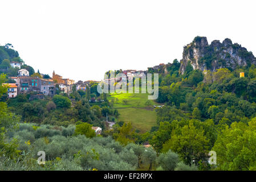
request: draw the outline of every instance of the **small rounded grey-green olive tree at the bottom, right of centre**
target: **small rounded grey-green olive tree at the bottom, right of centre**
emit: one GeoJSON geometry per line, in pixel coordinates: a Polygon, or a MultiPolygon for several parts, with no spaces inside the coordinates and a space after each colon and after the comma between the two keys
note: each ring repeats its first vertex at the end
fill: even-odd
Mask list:
{"type": "Polygon", "coordinates": [[[162,153],[157,158],[157,163],[165,170],[165,171],[173,171],[178,162],[180,161],[178,154],[169,150],[166,153],[162,153]]]}

